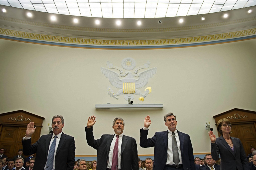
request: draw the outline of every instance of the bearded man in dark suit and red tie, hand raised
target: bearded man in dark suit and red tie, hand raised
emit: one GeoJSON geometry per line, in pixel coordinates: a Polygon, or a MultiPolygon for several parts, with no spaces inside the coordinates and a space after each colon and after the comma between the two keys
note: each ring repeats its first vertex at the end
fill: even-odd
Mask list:
{"type": "Polygon", "coordinates": [[[86,140],[89,146],[97,149],[97,169],[110,170],[138,170],[138,151],[134,138],[123,135],[124,121],[116,117],[112,128],[115,135],[102,135],[95,140],[92,133],[92,126],[95,117],[89,117],[87,127],[85,127],[86,140]]]}

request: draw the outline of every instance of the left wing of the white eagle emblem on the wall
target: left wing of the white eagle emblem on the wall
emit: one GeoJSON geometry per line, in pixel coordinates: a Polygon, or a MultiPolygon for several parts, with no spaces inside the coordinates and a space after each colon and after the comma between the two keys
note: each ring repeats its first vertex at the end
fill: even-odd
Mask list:
{"type": "Polygon", "coordinates": [[[109,79],[109,82],[116,88],[122,88],[122,80],[119,79],[119,75],[109,69],[100,68],[101,72],[109,79]]]}

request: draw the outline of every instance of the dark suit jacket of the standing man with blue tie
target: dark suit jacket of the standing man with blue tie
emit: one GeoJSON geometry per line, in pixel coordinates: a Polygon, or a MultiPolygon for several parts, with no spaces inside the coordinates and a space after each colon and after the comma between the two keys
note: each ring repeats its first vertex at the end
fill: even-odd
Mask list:
{"type": "MultiPolygon", "coordinates": [[[[44,169],[51,138],[52,134],[42,135],[33,145],[31,145],[31,138],[22,140],[24,155],[37,153],[33,169],[44,169]]],[[[56,170],[73,170],[75,164],[75,149],[74,137],[62,133],[55,155],[56,170]]]]}

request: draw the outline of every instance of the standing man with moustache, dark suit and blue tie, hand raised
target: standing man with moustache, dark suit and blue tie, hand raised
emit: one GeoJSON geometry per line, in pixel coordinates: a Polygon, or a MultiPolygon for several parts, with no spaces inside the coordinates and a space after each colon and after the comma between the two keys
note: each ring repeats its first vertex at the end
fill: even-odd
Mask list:
{"type": "Polygon", "coordinates": [[[25,155],[37,153],[34,169],[73,170],[75,141],[74,137],[62,132],[63,126],[63,117],[61,115],[53,116],[53,134],[42,135],[36,143],[31,145],[31,135],[35,132],[36,127],[34,128],[33,122],[28,124],[22,145],[25,155]]]}

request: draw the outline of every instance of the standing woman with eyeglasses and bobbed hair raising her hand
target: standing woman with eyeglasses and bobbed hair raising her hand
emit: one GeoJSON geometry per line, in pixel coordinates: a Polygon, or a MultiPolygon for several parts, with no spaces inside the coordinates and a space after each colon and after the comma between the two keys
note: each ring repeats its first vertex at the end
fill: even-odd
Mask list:
{"type": "Polygon", "coordinates": [[[220,155],[220,170],[248,170],[249,164],[240,139],[230,136],[231,122],[225,118],[219,120],[217,131],[221,134],[219,138],[211,130],[208,134],[212,159],[218,160],[220,155]]]}

